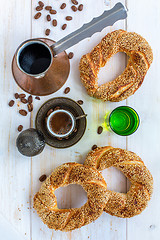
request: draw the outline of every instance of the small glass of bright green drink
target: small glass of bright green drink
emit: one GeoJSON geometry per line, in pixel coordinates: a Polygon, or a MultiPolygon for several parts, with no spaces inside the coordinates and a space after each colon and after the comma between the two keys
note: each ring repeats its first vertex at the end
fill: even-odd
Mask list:
{"type": "Polygon", "coordinates": [[[115,108],[109,115],[109,126],[118,135],[129,136],[139,127],[138,113],[131,107],[121,106],[115,108]]]}

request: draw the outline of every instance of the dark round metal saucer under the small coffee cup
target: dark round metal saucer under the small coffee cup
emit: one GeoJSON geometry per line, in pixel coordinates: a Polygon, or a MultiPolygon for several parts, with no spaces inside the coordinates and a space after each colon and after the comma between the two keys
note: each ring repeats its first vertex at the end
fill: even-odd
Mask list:
{"type": "Polygon", "coordinates": [[[68,148],[79,142],[83,137],[86,130],[87,120],[86,118],[77,120],[75,131],[67,139],[57,139],[47,131],[46,127],[47,113],[50,109],[54,110],[56,107],[70,111],[74,117],[84,115],[85,113],[77,102],[70,98],[64,97],[52,98],[48,100],[40,107],[37,113],[35,126],[43,133],[46,144],[54,148],[68,148]]]}

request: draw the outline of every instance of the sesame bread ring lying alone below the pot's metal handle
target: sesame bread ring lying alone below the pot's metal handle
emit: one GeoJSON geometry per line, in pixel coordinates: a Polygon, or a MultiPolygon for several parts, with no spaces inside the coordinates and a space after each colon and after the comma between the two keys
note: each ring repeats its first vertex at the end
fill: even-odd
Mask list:
{"type": "Polygon", "coordinates": [[[80,78],[90,96],[119,102],[137,91],[152,61],[152,49],[142,36],[135,32],[116,30],[108,33],[92,52],[81,58],[80,78]],[[125,52],[129,56],[126,69],[113,81],[98,86],[100,68],[118,52],[125,52]]]}

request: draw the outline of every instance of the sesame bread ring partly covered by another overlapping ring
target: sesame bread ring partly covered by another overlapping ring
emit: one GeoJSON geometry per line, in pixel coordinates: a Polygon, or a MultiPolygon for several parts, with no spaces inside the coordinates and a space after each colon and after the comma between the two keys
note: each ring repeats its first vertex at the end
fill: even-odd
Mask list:
{"type": "Polygon", "coordinates": [[[104,211],[121,218],[140,214],[147,206],[153,191],[153,178],[140,157],[120,148],[101,147],[89,152],[84,165],[99,171],[116,167],[130,180],[129,191],[118,193],[107,190],[110,198],[104,211]]]}

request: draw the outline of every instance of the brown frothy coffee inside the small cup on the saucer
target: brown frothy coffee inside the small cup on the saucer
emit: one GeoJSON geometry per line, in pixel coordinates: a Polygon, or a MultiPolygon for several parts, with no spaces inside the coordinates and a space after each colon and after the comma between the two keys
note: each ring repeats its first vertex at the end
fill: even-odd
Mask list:
{"type": "Polygon", "coordinates": [[[50,119],[49,126],[54,133],[64,135],[71,130],[72,120],[67,113],[57,112],[50,119]]]}

